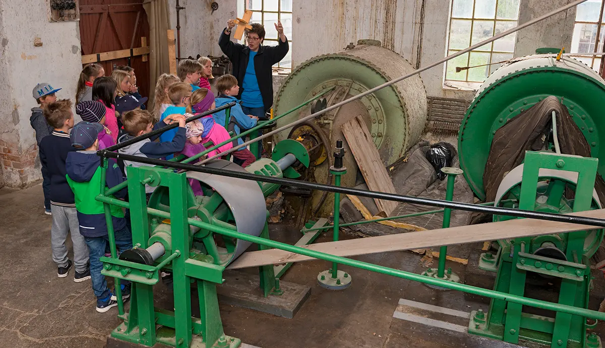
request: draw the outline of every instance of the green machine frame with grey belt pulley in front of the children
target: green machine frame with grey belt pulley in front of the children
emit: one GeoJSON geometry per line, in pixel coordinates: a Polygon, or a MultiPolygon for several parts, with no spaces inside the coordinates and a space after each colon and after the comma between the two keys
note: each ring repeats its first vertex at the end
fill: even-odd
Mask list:
{"type": "MultiPolygon", "coordinates": [[[[295,168],[309,166],[309,153],[298,141],[284,140],[275,146],[272,159],[260,159],[246,169],[222,159],[205,166],[296,178],[299,173],[295,168]]],[[[224,335],[215,285],[224,281],[224,269],[252,243],[212,230],[223,228],[269,239],[265,197],[279,186],[200,172],[175,173],[159,167],[126,170],[129,203],[108,202],[130,208],[134,248],[117,259],[113,247],[114,256],[101,260],[103,275],[132,282],[132,295],[130,311],[120,315],[124,322],[111,337],[149,347],[156,343],[177,348],[240,346],[240,340],[224,335]],[[199,182],[203,196],[194,195],[192,181],[199,182]],[[156,187],[148,204],[145,184],[156,187]],[[208,228],[194,227],[188,219],[208,228]],[[155,306],[152,286],[159,282],[160,270],[172,274],[174,311],[155,306]],[[191,314],[192,289],[198,292],[200,318],[191,314]]],[[[113,230],[111,218],[108,221],[108,228],[113,230]]],[[[260,267],[260,286],[266,297],[282,293],[273,265],[260,267]]]]}

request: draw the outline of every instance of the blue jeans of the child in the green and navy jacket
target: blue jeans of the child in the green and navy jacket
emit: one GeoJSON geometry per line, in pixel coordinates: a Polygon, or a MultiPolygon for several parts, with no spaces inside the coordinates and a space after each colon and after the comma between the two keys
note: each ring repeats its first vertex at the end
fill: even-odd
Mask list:
{"type": "MultiPolygon", "coordinates": [[[[114,235],[116,236],[116,247],[120,253],[132,248],[132,234],[128,230],[128,227],[115,231],[114,235]]],[[[103,263],[99,258],[105,254],[105,245],[109,242],[109,236],[84,237],[84,239],[86,240],[88,253],[90,254],[90,277],[93,282],[94,295],[97,298],[106,298],[110,295],[110,291],[107,288],[105,276],[101,274],[103,263]]],[[[128,285],[129,283],[122,280],[122,284],[124,285],[128,285]]]]}

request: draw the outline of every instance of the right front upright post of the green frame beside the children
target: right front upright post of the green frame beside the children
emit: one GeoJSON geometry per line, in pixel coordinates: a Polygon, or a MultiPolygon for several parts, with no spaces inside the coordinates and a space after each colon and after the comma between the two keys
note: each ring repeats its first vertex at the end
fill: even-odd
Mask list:
{"type": "Polygon", "coordinates": [[[187,222],[189,190],[186,173],[169,174],[170,225],[172,250],[180,251],[180,257],[172,261],[174,281],[174,332],[177,348],[191,345],[191,279],[185,274],[185,262],[189,259],[189,224],[187,222]]]}

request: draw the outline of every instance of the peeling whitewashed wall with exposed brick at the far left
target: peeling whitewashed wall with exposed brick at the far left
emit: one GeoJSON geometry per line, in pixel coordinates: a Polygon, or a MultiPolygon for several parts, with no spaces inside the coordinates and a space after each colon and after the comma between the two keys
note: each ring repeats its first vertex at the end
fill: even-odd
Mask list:
{"type": "Polygon", "coordinates": [[[30,126],[37,106],[34,86],[48,82],[59,98],[73,98],[82,69],[78,22],[51,23],[47,1],[0,0],[0,156],[8,186],[41,179],[38,147],[30,126]],[[27,9],[27,10],[24,10],[27,9]],[[42,47],[34,47],[36,37],[42,47]],[[74,48],[75,47],[75,48],[74,48]]]}

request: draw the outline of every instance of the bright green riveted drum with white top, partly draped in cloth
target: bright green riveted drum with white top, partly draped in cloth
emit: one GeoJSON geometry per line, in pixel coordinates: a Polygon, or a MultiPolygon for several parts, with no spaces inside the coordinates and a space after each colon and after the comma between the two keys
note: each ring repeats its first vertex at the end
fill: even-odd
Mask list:
{"type": "MultiPolygon", "coordinates": [[[[520,57],[494,71],[481,85],[460,126],[460,168],[476,195],[485,199],[483,171],[495,130],[506,121],[554,95],[567,107],[590,144],[591,155],[605,159],[605,81],[589,66],[556,54],[520,57]]],[[[605,161],[598,172],[605,173],[605,161]]]]}

